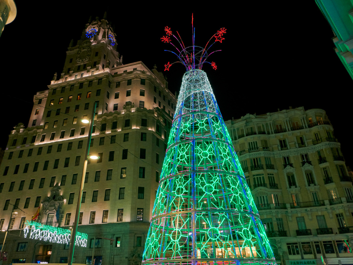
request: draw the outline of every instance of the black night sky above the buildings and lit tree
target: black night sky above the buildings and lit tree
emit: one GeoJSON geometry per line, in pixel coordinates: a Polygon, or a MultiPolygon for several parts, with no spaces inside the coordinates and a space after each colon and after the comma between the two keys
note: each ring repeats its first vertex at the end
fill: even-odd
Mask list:
{"type": "MultiPolygon", "coordinates": [[[[348,119],[352,116],[353,82],[334,52],[333,32],[314,1],[305,5],[247,1],[238,6],[234,6],[236,2],[231,6],[200,1],[192,2],[195,5],[134,2],[124,6],[121,1],[73,1],[55,7],[15,2],[17,17],[0,37],[3,149],[14,126],[27,126],[33,95],[47,89],[55,72],[60,77],[70,40],[76,45],[90,16],[102,19],[107,12],[123,64],[142,61],[149,69],[156,64],[157,70],[163,71],[164,64],[177,61],[163,51],[171,47],[160,41],[164,26],[178,30],[185,45],[191,45],[194,13],[196,45],[204,46],[219,28],[227,29],[225,40],[214,45],[222,51],[209,59],[216,63],[217,71],[210,65],[203,67],[224,120],[289,106],[324,109],[342,145],[346,165],[353,166],[348,119]]],[[[169,89],[179,90],[185,68],[175,64],[164,73],[169,89]]]]}

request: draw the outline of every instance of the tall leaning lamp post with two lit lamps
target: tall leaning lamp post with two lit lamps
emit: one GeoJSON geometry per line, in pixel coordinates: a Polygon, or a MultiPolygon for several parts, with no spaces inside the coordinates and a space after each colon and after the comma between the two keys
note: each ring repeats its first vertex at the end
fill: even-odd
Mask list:
{"type": "MultiPolygon", "coordinates": [[[[90,143],[91,143],[92,128],[93,128],[95,111],[96,111],[96,102],[94,102],[94,105],[93,105],[91,120],[87,120],[87,119],[81,120],[81,122],[86,123],[86,124],[90,123],[90,125],[89,125],[89,133],[88,133],[87,146],[86,146],[86,152],[85,152],[85,162],[83,164],[83,171],[82,171],[79,198],[78,198],[77,206],[76,206],[75,221],[74,221],[74,226],[73,226],[73,229],[72,229],[72,232],[71,232],[68,265],[72,265],[72,260],[73,260],[73,257],[74,257],[74,250],[75,250],[75,243],[76,243],[76,232],[77,232],[77,226],[78,226],[78,223],[79,223],[78,221],[79,221],[79,218],[80,218],[81,199],[82,199],[83,186],[85,184],[86,170],[87,170],[87,164],[88,164],[88,155],[89,155],[89,146],[90,146],[90,143]]],[[[92,156],[91,158],[92,159],[98,159],[99,157],[98,156],[96,156],[96,157],[92,156]]]]}

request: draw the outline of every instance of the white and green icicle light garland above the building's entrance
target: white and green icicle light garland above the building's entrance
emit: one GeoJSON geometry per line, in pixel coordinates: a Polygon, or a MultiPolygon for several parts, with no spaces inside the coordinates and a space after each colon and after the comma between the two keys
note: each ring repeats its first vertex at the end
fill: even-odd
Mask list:
{"type": "MultiPolygon", "coordinates": [[[[71,231],[60,227],[52,227],[43,225],[34,221],[26,220],[26,227],[23,230],[24,237],[41,241],[49,241],[51,243],[70,244],[71,231]],[[31,226],[31,228],[29,228],[31,226]]],[[[88,235],[76,232],[76,246],[86,247],[88,235]]]]}

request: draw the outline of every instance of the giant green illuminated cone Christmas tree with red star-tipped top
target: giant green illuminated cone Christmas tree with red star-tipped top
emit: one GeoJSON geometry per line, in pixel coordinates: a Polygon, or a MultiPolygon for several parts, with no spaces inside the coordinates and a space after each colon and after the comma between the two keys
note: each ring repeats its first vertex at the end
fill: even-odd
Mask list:
{"type": "MultiPolygon", "coordinates": [[[[175,38],[187,72],[178,98],[154,202],[143,264],[275,264],[258,210],[245,180],[213,90],[202,66],[205,48],[185,47],[165,27],[162,41],[175,38]]],[[[214,62],[209,63],[216,69],[214,62]]],[[[166,64],[169,70],[172,64],[166,64]]]]}

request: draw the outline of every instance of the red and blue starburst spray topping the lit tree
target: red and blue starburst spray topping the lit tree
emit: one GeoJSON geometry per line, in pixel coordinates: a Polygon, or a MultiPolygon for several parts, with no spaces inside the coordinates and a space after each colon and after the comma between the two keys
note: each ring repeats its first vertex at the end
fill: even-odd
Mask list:
{"type": "Polygon", "coordinates": [[[169,71],[169,67],[175,63],[182,63],[185,66],[187,71],[190,71],[193,69],[202,70],[202,66],[204,63],[210,64],[214,70],[217,70],[217,66],[214,62],[210,63],[210,62],[207,62],[206,60],[211,54],[213,54],[213,52],[221,51],[221,50],[219,49],[219,50],[212,51],[210,54],[208,53],[208,50],[217,41],[222,43],[222,40],[224,40],[222,36],[226,33],[226,28],[220,28],[206,43],[205,47],[200,47],[200,46],[195,46],[194,14],[192,14],[191,24],[192,24],[192,46],[188,46],[188,47],[184,45],[184,42],[181,36],[179,35],[178,31],[177,31],[177,34],[179,38],[172,33],[171,29],[168,26],[164,27],[166,36],[161,37],[161,40],[164,43],[170,43],[175,49],[177,49],[178,53],[171,50],[165,50],[165,51],[170,51],[179,58],[179,61],[177,62],[174,62],[172,64],[169,64],[168,62],[168,64],[164,65],[165,66],[164,71],[169,71]],[[170,36],[173,36],[179,42],[181,46],[180,50],[171,42],[170,36]],[[211,40],[213,40],[213,43],[207,48],[207,45],[211,40]]]}

